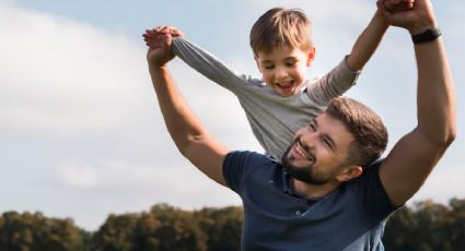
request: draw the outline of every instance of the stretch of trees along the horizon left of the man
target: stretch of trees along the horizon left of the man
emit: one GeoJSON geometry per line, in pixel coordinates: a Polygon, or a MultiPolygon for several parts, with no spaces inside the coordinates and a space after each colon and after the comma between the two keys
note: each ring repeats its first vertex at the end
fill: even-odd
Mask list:
{"type": "Polygon", "coordinates": [[[184,211],[166,204],[140,214],[109,215],[95,232],[72,219],[3,213],[0,251],[240,250],[242,208],[184,211]]]}

